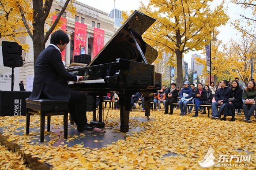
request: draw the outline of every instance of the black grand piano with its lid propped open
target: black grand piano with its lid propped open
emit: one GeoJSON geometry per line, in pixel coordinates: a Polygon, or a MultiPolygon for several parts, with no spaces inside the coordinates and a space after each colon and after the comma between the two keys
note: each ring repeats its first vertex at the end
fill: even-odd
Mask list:
{"type": "MultiPolygon", "coordinates": [[[[95,106],[96,96],[105,96],[107,92],[118,94],[121,132],[129,130],[132,94],[139,91],[143,94],[145,116],[148,117],[151,94],[161,89],[161,74],[155,73],[154,65],[151,65],[158,52],[141,37],[154,22],[154,18],[135,11],[86,67],[68,70],[84,78],[83,81],[69,82],[70,88],[93,95],[95,106]]],[[[98,121],[101,122],[102,101],[99,101],[98,111],[98,121]]],[[[96,107],[93,120],[96,120],[96,107]]]]}

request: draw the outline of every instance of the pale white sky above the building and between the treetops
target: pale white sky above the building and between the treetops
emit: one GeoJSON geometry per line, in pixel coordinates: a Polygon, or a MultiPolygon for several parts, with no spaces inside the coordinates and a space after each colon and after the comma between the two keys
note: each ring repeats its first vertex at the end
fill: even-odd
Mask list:
{"type": "MultiPolygon", "coordinates": [[[[140,3],[139,1],[142,1],[143,3],[148,2],[148,0],[77,0],[79,2],[82,2],[83,4],[87,4],[91,7],[94,7],[96,9],[99,9],[101,11],[105,11],[106,13],[110,13],[112,9],[115,7],[121,11],[131,11],[136,10],[139,8],[140,3]]],[[[226,9],[228,10],[228,15],[230,16],[230,21],[238,18],[239,13],[244,12],[243,9],[235,4],[228,3],[229,0],[226,0],[226,9]]],[[[215,7],[216,5],[220,4],[221,0],[214,0],[211,3],[212,7],[215,7]]],[[[218,35],[217,39],[222,40],[222,43],[226,44],[229,42],[230,38],[237,39],[240,36],[237,34],[238,32],[233,29],[230,24],[226,24],[226,26],[218,27],[218,30],[220,31],[220,34],[218,35]]],[[[192,54],[198,54],[202,57],[205,57],[205,55],[202,54],[202,51],[192,51],[188,52],[187,54],[184,54],[184,60],[188,63],[188,68],[191,67],[191,55],[192,54]]]]}

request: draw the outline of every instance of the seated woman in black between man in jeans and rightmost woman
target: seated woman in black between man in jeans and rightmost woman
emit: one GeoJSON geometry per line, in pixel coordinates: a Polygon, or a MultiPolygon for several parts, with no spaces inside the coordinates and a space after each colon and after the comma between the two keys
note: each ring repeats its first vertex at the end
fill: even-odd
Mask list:
{"type": "Polygon", "coordinates": [[[242,106],[242,95],[243,90],[240,89],[239,83],[234,80],[232,81],[232,90],[234,92],[234,100],[226,103],[224,108],[224,117],[220,120],[226,120],[226,116],[230,115],[232,118],[230,119],[230,122],[235,121],[235,110],[240,108],[242,106]]]}

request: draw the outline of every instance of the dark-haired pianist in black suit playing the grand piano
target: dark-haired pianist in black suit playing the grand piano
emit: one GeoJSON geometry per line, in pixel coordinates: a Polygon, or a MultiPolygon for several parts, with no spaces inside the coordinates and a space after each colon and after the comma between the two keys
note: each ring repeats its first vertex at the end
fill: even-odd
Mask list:
{"type": "Polygon", "coordinates": [[[61,61],[61,53],[69,43],[69,37],[62,30],[54,32],[47,48],[39,55],[35,64],[33,92],[29,100],[69,100],[68,110],[79,132],[91,130],[96,125],[87,124],[86,96],[68,86],[68,81],[83,80],[82,76],[70,74],[61,61]]]}

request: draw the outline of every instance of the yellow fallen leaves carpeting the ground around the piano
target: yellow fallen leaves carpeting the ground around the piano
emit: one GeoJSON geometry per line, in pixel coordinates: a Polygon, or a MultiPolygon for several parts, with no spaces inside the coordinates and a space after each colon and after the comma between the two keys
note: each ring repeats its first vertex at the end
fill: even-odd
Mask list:
{"type": "MultiPolygon", "coordinates": [[[[73,147],[67,147],[67,144],[53,147],[54,140],[31,144],[30,141],[39,134],[38,116],[30,119],[30,127],[38,127],[38,131],[30,132],[28,136],[25,135],[26,122],[19,121],[25,120],[23,116],[1,117],[0,126],[6,127],[2,132],[4,136],[22,146],[26,154],[31,154],[41,162],[52,165],[53,170],[200,170],[202,167],[197,161],[203,159],[210,146],[215,150],[215,163],[218,163],[219,155],[251,155],[249,168],[255,168],[255,120],[250,124],[242,122],[243,116],[237,116],[235,122],[229,122],[211,120],[207,115],[199,115],[196,118],[192,117],[193,114],[179,116],[179,110],[174,111],[173,115],[164,115],[163,112],[164,110],[151,111],[151,119],[141,122],[131,118],[145,118],[144,113],[132,111],[130,127],[144,129],[132,132],[132,135],[128,135],[126,139],[108,144],[104,148],[84,148],[83,144],[73,147]],[[15,135],[16,130],[22,130],[24,135],[15,135]],[[251,153],[238,152],[237,149],[251,153]]],[[[92,117],[91,112],[87,112],[87,115],[87,118],[92,117]]],[[[104,118],[105,116],[106,113],[104,118]]],[[[119,111],[110,110],[105,124],[106,129],[119,132],[119,129],[116,129],[120,126],[119,116],[119,111]]],[[[63,125],[62,119],[61,116],[52,116],[56,128],[63,125]]],[[[68,140],[80,139],[85,135],[81,133],[79,136],[69,137],[68,140]]],[[[94,142],[101,141],[94,140],[94,142]]],[[[233,169],[233,167],[219,168],[216,164],[213,168],[233,169]]],[[[248,169],[248,167],[239,168],[248,169]]]]}

